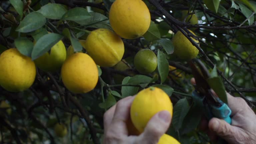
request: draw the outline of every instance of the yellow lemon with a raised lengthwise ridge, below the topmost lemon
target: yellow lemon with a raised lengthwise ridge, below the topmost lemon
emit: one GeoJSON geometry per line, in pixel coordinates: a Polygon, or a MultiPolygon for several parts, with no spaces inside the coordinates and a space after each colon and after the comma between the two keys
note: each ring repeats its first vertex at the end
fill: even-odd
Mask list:
{"type": "Polygon", "coordinates": [[[108,29],[94,30],[89,34],[85,43],[80,42],[95,63],[102,67],[114,66],[121,61],[124,55],[122,39],[108,29]]]}

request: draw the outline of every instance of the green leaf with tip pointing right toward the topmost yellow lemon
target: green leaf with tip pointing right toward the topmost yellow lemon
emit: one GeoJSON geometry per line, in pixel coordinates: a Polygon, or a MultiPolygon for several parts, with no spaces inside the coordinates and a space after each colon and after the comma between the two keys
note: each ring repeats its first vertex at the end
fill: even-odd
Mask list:
{"type": "Polygon", "coordinates": [[[90,18],[91,15],[88,13],[88,11],[84,8],[81,7],[76,7],[73,9],[70,9],[67,11],[62,19],[63,20],[70,20],[70,21],[81,21],[81,20],[86,20],[90,18]]]}

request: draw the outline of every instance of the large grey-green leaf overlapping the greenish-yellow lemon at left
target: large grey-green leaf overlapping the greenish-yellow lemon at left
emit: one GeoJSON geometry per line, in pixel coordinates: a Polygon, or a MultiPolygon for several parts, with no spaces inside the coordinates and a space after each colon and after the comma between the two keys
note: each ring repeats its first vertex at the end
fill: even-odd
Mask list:
{"type": "Polygon", "coordinates": [[[32,60],[37,59],[48,52],[57,42],[63,38],[62,35],[50,33],[42,36],[35,44],[32,51],[32,60]]]}

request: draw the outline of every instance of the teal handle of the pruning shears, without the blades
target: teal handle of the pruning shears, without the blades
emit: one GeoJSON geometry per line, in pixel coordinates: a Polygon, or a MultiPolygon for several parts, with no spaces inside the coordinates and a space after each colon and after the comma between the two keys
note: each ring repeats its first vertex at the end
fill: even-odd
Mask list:
{"type": "Polygon", "coordinates": [[[220,107],[216,107],[214,105],[205,105],[204,104],[204,97],[198,95],[196,91],[192,92],[192,97],[196,105],[198,105],[202,110],[204,115],[208,120],[213,117],[223,119],[227,123],[231,124],[231,109],[228,107],[227,104],[223,103],[219,98],[217,98],[218,102],[221,104],[220,107]]]}

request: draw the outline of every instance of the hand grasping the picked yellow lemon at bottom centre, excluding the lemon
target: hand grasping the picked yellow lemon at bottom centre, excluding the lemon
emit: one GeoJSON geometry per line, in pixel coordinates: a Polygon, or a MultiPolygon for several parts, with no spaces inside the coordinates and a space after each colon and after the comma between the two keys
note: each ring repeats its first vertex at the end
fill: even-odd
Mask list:
{"type": "Polygon", "coordinates": [[[128,136],[126,121],[134,97],[118,101],[104,114],[104,144],[157,144],[171,123],[168,111],[155,114],[139,136],[128,136]]]}

